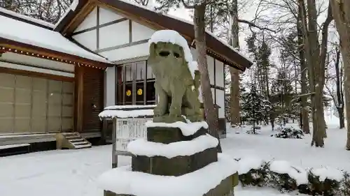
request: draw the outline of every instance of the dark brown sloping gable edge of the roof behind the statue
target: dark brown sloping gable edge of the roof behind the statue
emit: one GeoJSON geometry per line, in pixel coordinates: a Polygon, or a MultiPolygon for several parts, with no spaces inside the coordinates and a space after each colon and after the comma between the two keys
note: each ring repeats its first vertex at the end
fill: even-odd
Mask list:
{"type": "MultiPolygon", "coordinates": [[[[159,27],[162,27],[160,29],[170,29],[178,31],[182,36],[185,36],[190,42],[192,42],[195,39],[193,22],[183,20],[172,15],[158,13],[155,11],[154,8],[141,6],[130,0],[100,0],[99,3],[108,5],[111,8],[123,10],[123,12],[130,13],[130,15],[135,15],[137,16],[137,18],[139,18],[139,20],[145,20],[151,23],[158,24],[159,27]]],[[[82,8],[84,5],[86,5],[86,2],[78,2],[79,8],[82,8]]],[[[80,11],[83,11],[83,8],[80,10],[76,9],[75,11],[69,9],[69,11],[66,12],[64,17],[62,17],[62,19],[59,21],[59,23],[56,24],[55,31],[59,31],[70,35],[72,33],[71,30],[73,28],[71,28],[70,30],[66,30],[66,27],[67,25],[70,25],[69,21],[76,17],[78,13],[80,13],[80,11]]],[[[251,59],[249,59],[247,56],[244,56],[244,54],[242,54],[238,50],[235,50],[235,48],[231,47],[230,45],[228,45],[228,43],[225,43],[225,41],[216,37],[209,31],[206,32],[206,38],[207,48],[209,50],[208,52],[217,54],[218,57],[225,61],[224,63],[227,63],[229,66],[233,66],[240,70],[245,70],[246,68],[249,68],[253,65],[253,61],[251,61],[251,59]]]]}

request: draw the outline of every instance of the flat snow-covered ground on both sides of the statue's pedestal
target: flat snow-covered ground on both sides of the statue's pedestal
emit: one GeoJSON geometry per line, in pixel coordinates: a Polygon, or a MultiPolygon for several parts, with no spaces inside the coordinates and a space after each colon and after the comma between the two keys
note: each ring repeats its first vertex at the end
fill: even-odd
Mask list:
{"type": "MultiPolygon", "coordinates": [[[[257,157],[264,160],[287,160],[300,167],[329,166],[350,171],[350,153],[345,151],[346,130],[337,129],[337,121],[329,121],[325,148],[310,147],[311,137],[289,140],[270,137],[269,126],[260,135],[241,130],[228,130],[221,140],[224,153],[235,158],[257,157]]],[[[120,156],[120,166],[130,158],[120,156]]],[[[0,195],[103,195],[97,187],[97,176],[111,167],[111,145],[92,149],[46,151],[0,158],[0,195]]],[[[281,196],[276,190],[237,188],[238,196],[281,196]]],[[[286,195],[286,194],[284,194],[286,195]]],[[[287,195],[293,195],[288,193],[287,195]]]]}

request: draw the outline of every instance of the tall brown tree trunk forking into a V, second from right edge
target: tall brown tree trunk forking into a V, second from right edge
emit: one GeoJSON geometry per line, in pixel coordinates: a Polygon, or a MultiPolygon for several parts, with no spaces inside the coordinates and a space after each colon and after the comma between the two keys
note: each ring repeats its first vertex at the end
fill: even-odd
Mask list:
{"type": "Polygon", "coordinates": [[[323,147],[325,120],[323,114],[323,87],[325,82],[325,56],[328,42],[328,26],[332,21],[332,12],[328,15],[322,27],[321,44],[318,42],[317,9],[315,0],[298,0],[301,8],[302,32],[304,34],[304,50],[306,51],[309,86],[311,91],[313,132],[311,146],[323,147]],[[306,11],[307,10],[307,11],[306,11]]]}

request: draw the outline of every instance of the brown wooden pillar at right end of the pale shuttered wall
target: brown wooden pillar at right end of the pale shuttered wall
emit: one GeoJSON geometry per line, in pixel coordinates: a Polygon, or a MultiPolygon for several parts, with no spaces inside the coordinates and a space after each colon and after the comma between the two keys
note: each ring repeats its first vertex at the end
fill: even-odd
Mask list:
{"type": "Polygon", "coordinates": [[[83,131],[83,91],[84,91],[84,68],[76,66],[75,68],[75,131],[83,131]]]}

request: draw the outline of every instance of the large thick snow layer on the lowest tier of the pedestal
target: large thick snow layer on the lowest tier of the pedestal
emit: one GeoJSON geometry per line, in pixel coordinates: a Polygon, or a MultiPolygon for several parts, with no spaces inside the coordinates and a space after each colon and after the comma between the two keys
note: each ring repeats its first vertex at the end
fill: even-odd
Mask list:
{"type": "Polygon", "coordinates": [[[105,172],[97,182],[104,190],[137,196],[202,196],[223,179],[237,172],[235,160],[218,154],[218,161],[182,176],[132,172],[131,166],[105,172]]]}

